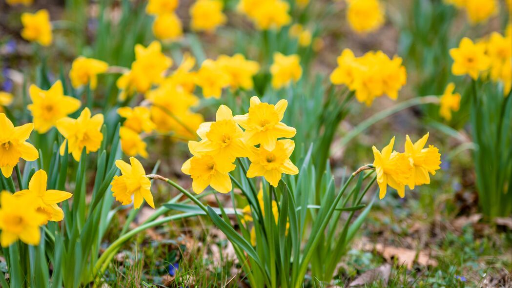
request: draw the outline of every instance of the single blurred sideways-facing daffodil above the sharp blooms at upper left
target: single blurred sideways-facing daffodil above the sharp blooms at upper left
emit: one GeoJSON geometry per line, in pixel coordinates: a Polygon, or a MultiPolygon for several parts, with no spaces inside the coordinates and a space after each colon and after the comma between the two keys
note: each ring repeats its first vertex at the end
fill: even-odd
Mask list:
{"type": "Polygon", "coordinates": [[[74,88],[90,83],[91,89],[96,89],[98,84],[97,75],[105,73],[109,64],[105,61],[80,56],[71,64],[69,77],[74,88]]]}

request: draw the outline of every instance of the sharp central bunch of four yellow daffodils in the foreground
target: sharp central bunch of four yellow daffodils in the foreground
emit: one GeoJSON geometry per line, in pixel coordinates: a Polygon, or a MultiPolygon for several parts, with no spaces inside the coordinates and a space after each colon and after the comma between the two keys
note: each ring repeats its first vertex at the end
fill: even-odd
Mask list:
{"type": "Polygon", "coordinates": [[[193,179],[194,192],[201,193],[208,186],[221,193],[231,191],[228,173],[235,169],[233,162],[238,157],[248,157],[251,161],[247,177],[263,176],[274,187],[283,173],[297,174],[297,167],[289,159],[294,142],[279,140],[296,133],[281,122],[287,105],[284,99],[274,106],[253,96],[249,112],[236,116],[221,105],[216,121],[204,122],[197,130],[201,140],[188,142],[193,157],[183,163],[181,170],[193,179]]]}

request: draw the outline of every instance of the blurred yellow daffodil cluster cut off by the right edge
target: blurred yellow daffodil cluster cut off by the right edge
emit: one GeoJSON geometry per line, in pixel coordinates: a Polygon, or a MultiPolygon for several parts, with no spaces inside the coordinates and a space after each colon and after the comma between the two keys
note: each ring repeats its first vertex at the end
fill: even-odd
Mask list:
{"type": "Polygon", "coordinates": [[[512,87],[512,35],[493,32],[474,43],[470,38],[460,40],[459,47],[450,49],[454,63],[454,75],[468,74],[474,80],[489,76],[503,84],[503,94],[508,95],[512,87]]]}

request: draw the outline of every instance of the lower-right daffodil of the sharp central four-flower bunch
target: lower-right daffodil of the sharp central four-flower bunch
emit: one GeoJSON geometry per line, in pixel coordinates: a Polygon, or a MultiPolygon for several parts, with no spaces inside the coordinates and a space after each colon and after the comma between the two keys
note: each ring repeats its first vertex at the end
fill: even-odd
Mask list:
{"type": "Polygon", "coordinates": [[[247,170],[247,177],[263,176],[273,187],[278,187],[283,173],[298,174],[298,168],[290,160],[294,149],[295,142],[290,139],[276,141],[272,150],[252,147],[249,154],[251,165],[247,170]]]}

